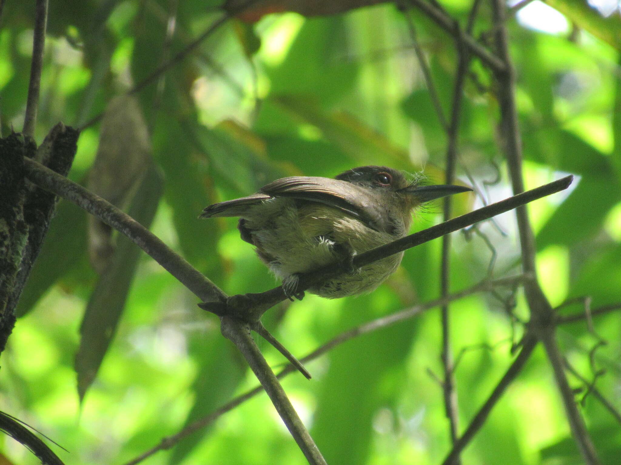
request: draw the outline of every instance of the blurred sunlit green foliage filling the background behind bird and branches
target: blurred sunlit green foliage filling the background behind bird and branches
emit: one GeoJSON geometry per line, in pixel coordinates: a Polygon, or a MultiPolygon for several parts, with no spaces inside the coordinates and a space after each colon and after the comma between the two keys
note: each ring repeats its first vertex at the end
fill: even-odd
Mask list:
{"type": "MultiPolygon", "coordinates": [[[[469,1],[442,4],[465,22],[469,1]]],[[[549,4],[566,15],[564,29],[533,29],[543,14],[537,1],[507,20],[527,186],[576,175],[571,192],[529,207],[537,264],[553,304],[589,296],[596,308],[621,301],[621,20],[618,10],[604,18],[583,0],[549,4]]],[[[81,134],[71,179],[83,182],[93,162],[99,139],[93,118],[204,32],[219,17],[218,7],[197,0],[50,2],[35,135],[40,142],[58,120],[93,122],[81,134]]],[[[559,20],[562,25],[558,12],[546,14],[550,27],[559,20]]],[[[33,17],[33,2],[4,3],[4,135],[22,125],[33,17]]],[[[491,27],[490,17],[483,2],[476,37],[491,27]]],[[[420,12],[412,12],[412,19],[448,115],[453,41],[420,12]]],[[[152,201],[136,197],[127,207],[141,209],[136,216],[147,224],[153,219],[152,231],[225,292],[268,290],[275,282],[238,238],[235,221],[199,221],[201,208],[255,192],[283,175],[332,177],[362,164],[424,168],[442,182],[446,135],[411,43],[402,14],[391,4],[335,17],[280,14],[255,25],[227,22],[137,94],[163,195],[152,185],[152,201]]],[[[510,195],[497,146],[495,85],[473,60],[458,175],[467,183],[467,170],[489,201],[510,195]]],[[[458,211],[470,208],[456,205],[458,211]]],[[[415,228],[437,222],[439,210],[420,213],[415,228]]],[[[508,213],[495,225],[479,225],[496,254],[495,277],[519,272],[512,218],[508,213]]],[[[123,464],[256,381],[220,335],[217,319],[200,311],[196,298],[144,254],[117,257],[122,272],[114,289],[127,292],[96,291],[101,283],[88,265],[86,231],[84,213],[61,202],[2,354],[0,409],[69,449],[57,451],[68,465],[123,464]],[[74,370],[78,348],[78,366],[96,373],[93,384],[80,384],[81,403],[74,370]]],[[[124,247],[119,240],[117,250],[124,247]]],[[[481,237],[455,234],[452,250],[452,290],[487,277],[492,250],[481,237]]],[[[353,325],[436,298],[439,259],[438,241],[409,250],[402,268],[374,293],[338,301],[307,296],[272,309],[266,324],[292,353],[305,355],[353,325]]],[[[523,330],[505,314],[507,293],[477,294],[451,306],[453,347],[461,354],[455,375],[462,430],[510,364],[511,342],[523,330]]],[[[562,310],[572,311],[581,311],[580,304],[562,310]]],[[[521,294],[514,312],[527,317],[521,294]]],[[[558,339],[582,376],[592,379],[594,370],[605,370],[596,386],[619,411],[618,314],[596,317],[594,330],[607,345],[591,358],[598,339],[584,322],[564,325],[558,339]]],[[[442,371],[440,334],[437,311],[428,311],[333,349],[309,364],[311,381],[299,374],[283,381],[328,463],[442,461],[450,448],[448,424],[442,391],[430,376],[442,371]]],[[[283,363],[259,342],[273,366],[283,363]]],[[[569,377],[573,387],[586,391],[569,377]]],[[[586,397],[582,412],[602,463],[619,463],[619,423],[593,396],[586,397]]],[[[0,451],[11,463],[37,463],[11,438],[0,437],[0,451]]],[[[580,460],[545,354],[536,350],[466,449],[463,464],[580,460]]],[[[306,461],[261,394],[145,463],[306,461]]]]}

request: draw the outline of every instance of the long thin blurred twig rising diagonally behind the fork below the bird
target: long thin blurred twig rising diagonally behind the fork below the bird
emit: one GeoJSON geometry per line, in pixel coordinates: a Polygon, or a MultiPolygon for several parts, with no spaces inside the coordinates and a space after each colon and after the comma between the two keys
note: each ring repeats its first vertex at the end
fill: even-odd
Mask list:
{"type": "MultiPolygon", "coordinates": [[[[368,333],[371,333],[377,330],[381,330],[383,328],[389,327],[391,325],[397,324],[402,321],[406,321],[407,319],[418,316],[422,312],[430,310],[442,304],[452,302],[458,299],[462,299],[474,293],[487,292],[499,286],[514,286],[517,283],[521,283],[522,281],[524,281],[524,277],[522,275],[515,276],[515,277],[509,277],[509,278],[502,278],[502,279],[495,280],[495,281],[485,280],[477,285],[472,286],[471,288],[460,291],[458,293],[451,294],[450,296],[446,296],[446,298],[435,299],[433,301],[430,301],[424,304],[417,304],[413,307],[407,308],[400,312],[396,312],[388,316],[374,319],[373,321],[369,321],[367,323],[358,325],[356,327],[353,327],[350,330],[347,330],[333,337],[328,342],[320,345],[320,347],[316,348],[311,353],[304,356],[304,358],[301,358],[301,361],[303,363],[307,363],[309,361],[315,360],[319,358],[320,356],[324,355],[325,353],[329,352],[333,348],[337,347],[338,345],[341,345],[342,343],[347,342],[348,340],[354,339],[363,334],[368,334],[368,333]]],[[[294,368],[293,365],[289,364],[288,366],[283,368],[283,370],[280,373],[278,373],[277,378],[278,379],[284,378],[284,376],[287,376],[289,373],[293,373],[294,371],[296,371],[296,368],[294,368]]],[[[219,418],[220,416],[224,415],[227,412],[230,412],[230,410],[235,409],[235,407],[247,401],[248,399],[251,399],[252,397],[256,396],[256,394],[259,394],[261,391],[263,391],[263,388],[261,386],[257,386],[254,389],[251,389],[250,391],[245,392],[244,394],[240,394],[240,396],[237,396],[231,401],[222,405],[222,407],[219,407],[218,409],[214,410],[214,412],[212,412],[211,414],[206,415],[205,417],[199,418],[199,420],[196,420],[194,423],[191,423],[190,425],[183,428],[183,430],[179,431],[175,435],[162,438],[162,440],[160,441],[158,445],[154,446],[152,449],[149,449],[145,453],[140,454],[140,456],[137,456],[136,458],[125,463],[124,465],[136,465],[137,463],[142,462],[143,460],[149,458],[150,456],[152,456],[158,451],[170,449],[171,447],[176,445],[176,443],[178,443],[179,441],[183,440],[184,438],[196,432],[197,430],[200,430],[201,428],[206,427],[210,423],[217,420],[217,418],[219,418]]]]}

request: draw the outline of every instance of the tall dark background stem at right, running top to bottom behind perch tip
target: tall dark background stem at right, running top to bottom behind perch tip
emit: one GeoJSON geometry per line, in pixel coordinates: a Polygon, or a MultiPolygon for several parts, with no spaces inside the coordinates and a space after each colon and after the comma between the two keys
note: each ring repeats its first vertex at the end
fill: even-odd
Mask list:
{"type": "MultiPolygon", "coordinates": [[[[491,0],[494,16],[495,42],[497,54],[504,62],[504,69],[495,69],[494,74],[498,82],[497,95],[501,108],[501,130],[504,140],[504,151],[507,157],[507,166],[514,193],[524,191],[522,180],[522,141],[518,128],[517,109],[515,106],[515,73],[509,57],[507,30],[505,28],[505,2],[491,0]]],[[[545,298],[537,282],[535,269],[535,239],[528,221],[525,206],[516,210],[517,224],[522,249],[522,266],[524,272],[532,274],[535,279],[525,283],[524,291],[530,308],[532,327],[543,345],[553,368],[556,384],[559,388],[569,426],[574,439],[578,443],[582,457],[587,465],[597,465],[599,460],[592,445],[591,438],[584,425],[584,420],[574,401],[573,392],[564,373],[563,359],[555,340],[554,314],[550,303],[545,298]]]]}

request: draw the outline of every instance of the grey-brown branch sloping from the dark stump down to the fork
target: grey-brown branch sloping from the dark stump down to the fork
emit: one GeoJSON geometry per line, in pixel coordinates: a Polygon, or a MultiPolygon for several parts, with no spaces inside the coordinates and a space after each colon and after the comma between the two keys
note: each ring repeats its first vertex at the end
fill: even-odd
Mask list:
{"type": "Polygon", "coordinates": [[[116,206],[29,158],[24,158],[24,170],[26,177],[34,184],[75,203],[108,226],[125,234],[198,298],[203,301],[224,301],[227,298],[214,283],[175,254],[155,234],[116,206]]]}

